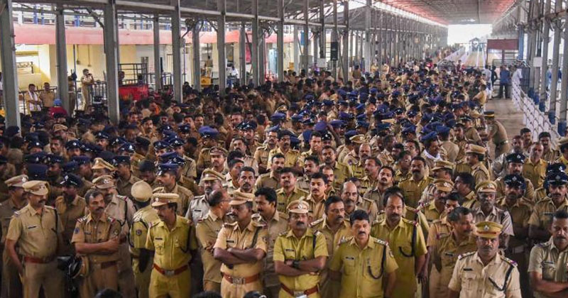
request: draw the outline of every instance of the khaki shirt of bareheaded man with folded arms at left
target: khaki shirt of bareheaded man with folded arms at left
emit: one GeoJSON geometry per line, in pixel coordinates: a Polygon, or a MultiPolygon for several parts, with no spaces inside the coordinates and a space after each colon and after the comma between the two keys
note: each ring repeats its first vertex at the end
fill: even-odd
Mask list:
{"type": "MultiPolygon", "coordinates": [[[[91,214],[77,220],[71,243],[102,243],[111,238],[119,237],[121,223],[108,216],[106,213],[95,220],[91,214]]],[[[90,253],[87,255],[91,263],[105,263],[119,260],[119,252],[114,253],[90,253]]]]}

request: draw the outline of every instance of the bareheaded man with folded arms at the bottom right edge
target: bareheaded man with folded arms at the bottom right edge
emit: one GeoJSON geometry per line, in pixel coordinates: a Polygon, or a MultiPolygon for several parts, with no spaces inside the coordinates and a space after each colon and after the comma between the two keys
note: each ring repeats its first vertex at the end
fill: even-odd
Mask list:
{"type": "MultiPolygon", "coordinates": [[[[530,251],[528,272],[535,298],[567,297],[568,212],[555,211],[552,219],[552,237],[535,245],[530,251]]],[[[525,281],[525,280],[523,280],[525,281]]]]}

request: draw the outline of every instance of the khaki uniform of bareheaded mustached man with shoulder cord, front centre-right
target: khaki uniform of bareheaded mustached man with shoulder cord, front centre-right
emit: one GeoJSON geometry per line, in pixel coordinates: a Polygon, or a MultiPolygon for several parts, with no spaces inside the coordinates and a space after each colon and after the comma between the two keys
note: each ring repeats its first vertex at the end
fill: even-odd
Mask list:
{"type": "Polygon", "coordinates": [[[388,243],[369,237],[365,248],[354,238],[343,241],[334,253],[329,270],[342,272],[338,297],[383,297],[383,277],[398,269],[388,243]]]}

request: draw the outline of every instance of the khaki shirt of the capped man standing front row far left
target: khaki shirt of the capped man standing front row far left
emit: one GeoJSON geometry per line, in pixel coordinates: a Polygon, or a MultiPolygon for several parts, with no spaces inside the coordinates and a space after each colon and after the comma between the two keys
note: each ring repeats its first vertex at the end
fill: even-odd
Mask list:
{"type": "Polygon", "coordinates": [[[58,252],[58,238],[63,226],[57,211],[43,207],[41,214],[30,204],[14,212],[6,239],[15,241],[18,253],[34,258],[52,258],[58,252]]]}

